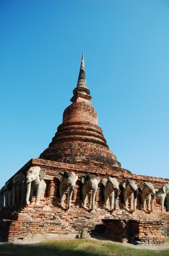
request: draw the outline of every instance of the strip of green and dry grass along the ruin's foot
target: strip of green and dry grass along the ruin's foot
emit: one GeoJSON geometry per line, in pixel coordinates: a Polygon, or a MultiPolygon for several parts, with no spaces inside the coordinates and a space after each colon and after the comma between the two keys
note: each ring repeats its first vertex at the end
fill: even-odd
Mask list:
{"type": "Polygon", "coordinates": [[[118,255],[118,256],[161,256],[169,255],[169,249],[163,251],[139,250],[115,245],[113,243],[93,241],[89,239],[72,239],[65,241],[48,241],[34,245],[0,245],[2,256],[97,256],[97,255],[118,255]]]}

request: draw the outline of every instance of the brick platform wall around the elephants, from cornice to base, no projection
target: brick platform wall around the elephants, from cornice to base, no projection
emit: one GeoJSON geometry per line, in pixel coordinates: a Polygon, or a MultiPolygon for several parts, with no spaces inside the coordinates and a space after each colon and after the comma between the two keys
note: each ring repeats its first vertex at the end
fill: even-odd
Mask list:
{"type": "MultiPolygon", "coordinates": [[[[97,166],[96,168],[96,166],[78,166],[39,158],[30,160],[19,172],[25,172],[30,166],[40,166],[46,170],[46,194],[44,195],[44,199],[40,201],[39,206],[34,206],[35,197],[32,197],[32,204],[29,206],[22,208],[13,207],[0,211],[0,235],[6,241],[34,237],[56,238],[58,236],[71,235],[75,237],[82,228],[93,230],[97,225],[102,224],[102,219],[107,218],[113,220],[135,220],[135,223],[139,220],[142,221],[143,229],[143,223],[164,220],[166,226],[163,226],[162,232],[167,234],[169,213],[161,212],[160,205],[156,203],[156,199],[154,213],[148,214],[142,211],[139,199],[137,199],[137,211],[130,214],[123,209],[121,193],[119,193],[117,210],[110,212],[104,209],[103,187],[99,187],[96,195],[97,209],[92,212],[89,208],[87,210],[82,209],[80,175],[86,174],[87,172],[97,174],[101,178],[101,181],[104,177],[116,177],[120,183],[126,179],[134,179],[137,185],[143,181],[150,181],[156,189],[168,183],[168,179],[131,174],[128,170],[117,167],[113,167],[110,170],[109,166],[106,165],[101,165],[100,168],[97,166]],[[64,172],[65,170],[74,171],[78,174],[78,181],[74,189],[72,208],[70,210],[65,210],[61,207],[58,196],[58,181],[54,178],[57,177],[58,172],[64,172]]],[[[164,238],[160,241],[164,241],[164,238]]]]}

